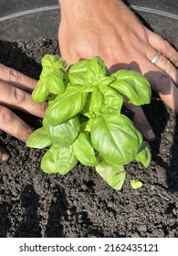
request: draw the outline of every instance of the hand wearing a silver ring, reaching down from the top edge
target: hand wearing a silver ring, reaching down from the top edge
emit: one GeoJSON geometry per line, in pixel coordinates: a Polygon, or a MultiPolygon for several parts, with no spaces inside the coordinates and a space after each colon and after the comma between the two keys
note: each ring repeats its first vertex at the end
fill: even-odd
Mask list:
{"type": "MultiPolygon", "coordinates": [[[[162,101],[178,112],[178,52],[132,14],[119,0],[60,0],[61,22],[58,40],[68,64],[98,55],[111,71],[140,71],[162,101]],[[75,3],[74,3],[75,2],[75,3]],[[162,53],[156,64],[156,52],[162,53]]],[[[154,139],[141,107],[130,103],[133,122],[146,140],[154,139]]]]}

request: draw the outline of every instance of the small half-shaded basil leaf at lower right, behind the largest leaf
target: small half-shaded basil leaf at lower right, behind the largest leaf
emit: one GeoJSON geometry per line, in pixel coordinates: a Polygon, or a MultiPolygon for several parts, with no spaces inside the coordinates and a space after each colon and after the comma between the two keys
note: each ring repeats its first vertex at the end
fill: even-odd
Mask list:
{"type": "Polygon", "coordinates": [[[142,142],[139,153],[136,155],[135,160],[147,168],[151,164],[152,155],[148,143],[142,142]]]}

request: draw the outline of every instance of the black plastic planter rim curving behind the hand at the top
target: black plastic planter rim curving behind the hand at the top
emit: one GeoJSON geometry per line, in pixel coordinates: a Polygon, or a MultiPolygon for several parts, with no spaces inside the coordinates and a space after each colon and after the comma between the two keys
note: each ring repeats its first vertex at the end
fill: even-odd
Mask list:
{"type": "MultiPolygon", "coordinates": [[[[7,5],[5,13],[1,13],[2,10],[0,10],[1,40],[16,41],[18,39],[58,37],[60,5],[58,5],[57,0],[51,0],[50,3],[46,0],[40,0],[40,5],[37,5],[36,0],[31,0],[32,2],[30,3],[33,5],[28,5],[27,7],[26,5],[21,5],[20,8],[17,8],[19,6],[18,0],[15,1],[17,5],[7,5]]],[[[142,3],[143,1],[140,0],[129,0],[128,2],[133,12],[135,11],[143,18],[144,16],[152,16],[153,20],[149,19],[151,23],[154,22],[157,27],[166,26],[171,34],[172,31],[176,34],[177,4],[175,2],[175,8],[173,9],[174,0],[170,0],[171,4],[167,3],[166,8],[165,1],[160,0],[157,5],[154,5],[154,8],[152,8],[152,0],[146,3],[142,3]]],[[[24,0],[23,3],[28,3],[28,0],[24,0]]]]}

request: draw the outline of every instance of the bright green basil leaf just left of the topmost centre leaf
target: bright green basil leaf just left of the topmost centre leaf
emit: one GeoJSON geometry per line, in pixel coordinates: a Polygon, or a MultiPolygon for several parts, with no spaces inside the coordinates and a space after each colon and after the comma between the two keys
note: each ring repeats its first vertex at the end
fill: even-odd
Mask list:
{"type": "Polygon", "coordinates": [[[68,69],[68,80],[71,84],[83,85],[87,80],[89,59],[82,59],[68,69]]]}

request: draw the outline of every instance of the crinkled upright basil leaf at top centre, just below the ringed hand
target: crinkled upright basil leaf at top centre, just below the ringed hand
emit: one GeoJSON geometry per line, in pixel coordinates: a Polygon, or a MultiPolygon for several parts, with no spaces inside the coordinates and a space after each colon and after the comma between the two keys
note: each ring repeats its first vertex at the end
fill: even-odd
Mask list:
{"type": "Polygon", "coordinates": [[[100,59],[99,56],[89,60],[87,74],[89,81],[93,81],[93,83],[107,75],[107,68],[104,61],[100,59]]]}

